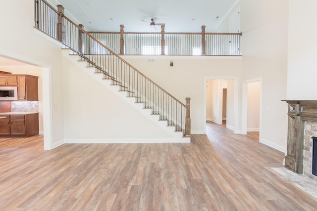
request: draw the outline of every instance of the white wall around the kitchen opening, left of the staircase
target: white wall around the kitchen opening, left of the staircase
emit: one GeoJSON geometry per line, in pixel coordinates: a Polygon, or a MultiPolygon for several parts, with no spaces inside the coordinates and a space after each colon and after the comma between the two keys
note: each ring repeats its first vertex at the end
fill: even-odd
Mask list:
{"type": "MultiPolygon", "coordinates": [[[[1,7],[5,8],[0,13],[1,39],[0,56],[21,60],[36,66],[47,67],[51,76],[44,82],[51,87],[49,94],[50,102],[48,110],[52,104],[60,105],[59,109],[52,114],[44,116],[44,125],[51,131],[44,131],[44,138],[47,140],[45,148],[52,148],[64,138],[63,124],[63,97],[62,68],[61,68],[61,49],[54,42],[48,41],[36,33],[34,26],[34,1],[33,0],[15,0],[3,1],[1,7]],[[52,94],[52,95],[51,95],[52,94]]],[[[45,127],[46,127],[45,126],[45,127]]]]}

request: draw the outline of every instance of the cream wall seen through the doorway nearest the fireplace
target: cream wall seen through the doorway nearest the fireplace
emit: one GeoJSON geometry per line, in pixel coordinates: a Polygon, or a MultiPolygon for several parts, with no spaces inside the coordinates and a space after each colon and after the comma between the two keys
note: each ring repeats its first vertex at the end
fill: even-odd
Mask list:
{"type": "Polygon", "coordinates": [[[248,131],[260,130],[261,82],[248,83],[248,131]]]}

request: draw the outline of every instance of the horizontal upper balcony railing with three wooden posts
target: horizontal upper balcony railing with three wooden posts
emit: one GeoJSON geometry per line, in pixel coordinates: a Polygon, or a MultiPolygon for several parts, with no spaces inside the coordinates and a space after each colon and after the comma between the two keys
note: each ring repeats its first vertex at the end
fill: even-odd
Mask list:
{"type": "Polygon", "coordinates": [[[89,32],[119,55],[240,56],[242,33],[89,32]]]}

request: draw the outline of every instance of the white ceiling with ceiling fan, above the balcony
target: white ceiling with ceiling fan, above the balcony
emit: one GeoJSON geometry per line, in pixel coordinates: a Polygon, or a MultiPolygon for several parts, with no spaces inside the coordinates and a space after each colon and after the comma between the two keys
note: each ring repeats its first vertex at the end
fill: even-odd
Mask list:
{"type": "MultiPolygon", "coordinates": [[[[165,32],[201,32],[202,25],[206,25],[206,32],[214,32],[237,0],[56,1],[73,14],[80,21],[77,24],[83,24],[86,31],[118,32],[123,24],[125,32],[151,32],[151,18],[157,17],[156,23],[165,24],[165,32]]],[[[160,27],[157,28],[160,31],[160,27]]]]}

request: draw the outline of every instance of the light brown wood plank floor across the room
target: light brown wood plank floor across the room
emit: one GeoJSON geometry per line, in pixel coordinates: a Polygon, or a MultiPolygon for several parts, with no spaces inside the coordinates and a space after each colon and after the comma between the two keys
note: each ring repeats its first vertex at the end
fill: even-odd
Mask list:
{"type": "Polygon", "coordinates": [[[269,168],[284,154],[207,123],[179,144],[64,144],[0,138],[0,210],[315,211],[269,168]]]}

